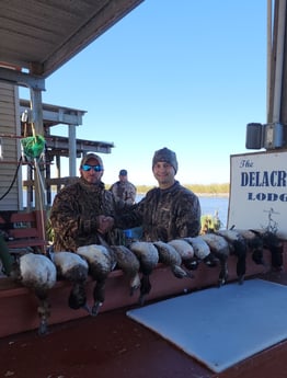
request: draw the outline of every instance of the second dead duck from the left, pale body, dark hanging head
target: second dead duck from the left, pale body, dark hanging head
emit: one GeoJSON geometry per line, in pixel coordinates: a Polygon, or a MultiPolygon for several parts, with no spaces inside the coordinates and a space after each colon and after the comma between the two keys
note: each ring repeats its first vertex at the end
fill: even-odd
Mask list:
{"type": "Polygon", "coordinates": [[[72,283],[68,305],[71,309],[80,308],[90,313],[87,305],[85,283],[88,278],[88,263],[84,259],[74,252],[55,252],[53,261],[57,267],[57,274],[60,279],[67,279],[72,283]]]}

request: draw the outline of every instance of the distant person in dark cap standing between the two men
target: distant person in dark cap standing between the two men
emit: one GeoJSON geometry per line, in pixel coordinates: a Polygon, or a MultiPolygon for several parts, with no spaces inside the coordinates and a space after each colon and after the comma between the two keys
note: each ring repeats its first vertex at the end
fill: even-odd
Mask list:
{"type": "Polygon", "coordinates": [[[127,170],[119,171],[118,181],[110,187],[110,191],[116,198],[120,198],[129,205],[136,202],[137,188],[128,181],[127,170]]]}

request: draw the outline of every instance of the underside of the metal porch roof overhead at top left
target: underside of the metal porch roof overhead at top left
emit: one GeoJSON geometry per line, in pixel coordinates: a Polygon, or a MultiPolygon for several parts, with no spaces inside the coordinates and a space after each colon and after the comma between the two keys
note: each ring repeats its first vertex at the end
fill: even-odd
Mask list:
{"type": "Polygon", "coordinates": [[[46,78],[142,1],[1,0],[0,66],[46,78]]]}

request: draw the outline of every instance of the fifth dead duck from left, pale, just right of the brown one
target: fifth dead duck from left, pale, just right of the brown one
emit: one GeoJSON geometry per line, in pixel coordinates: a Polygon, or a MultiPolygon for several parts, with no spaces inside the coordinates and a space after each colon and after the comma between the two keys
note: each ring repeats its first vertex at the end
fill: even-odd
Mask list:
{"type": "Polygon", "coordinates": [[[142,273],[139,303],[144,305],[146,296],[151,290],[150,275],[159,263],[159,252],[156,245],[149,241],[134,241],[129,244],[129,249],[139,260],[140,272],[142,273]]]}

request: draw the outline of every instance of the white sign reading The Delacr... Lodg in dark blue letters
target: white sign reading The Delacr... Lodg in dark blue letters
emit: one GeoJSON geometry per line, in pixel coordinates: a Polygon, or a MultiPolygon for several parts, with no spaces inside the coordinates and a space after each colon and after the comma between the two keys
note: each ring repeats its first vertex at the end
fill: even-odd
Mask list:
{"type": "Polygon", "coordinates": [[[267,229],[287,239],[287,151],[230,157],[228,228],[267,229]]]}

